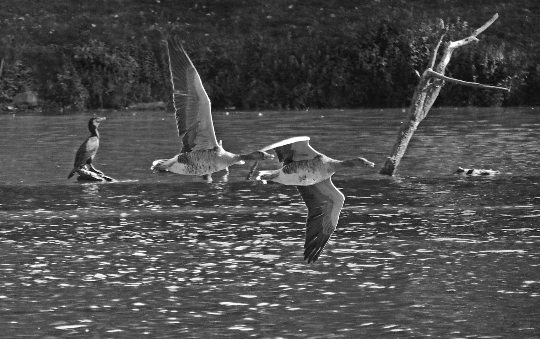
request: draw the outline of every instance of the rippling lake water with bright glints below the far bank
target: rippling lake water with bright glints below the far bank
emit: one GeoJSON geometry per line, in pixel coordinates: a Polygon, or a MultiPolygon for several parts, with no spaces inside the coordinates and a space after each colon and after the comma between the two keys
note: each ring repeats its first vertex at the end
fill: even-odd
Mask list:
{"type": "Polygon", "coordinates": [[[180,148],[172,113],[98,113],[118,183],[66,179],[93,113],[0,114],[0,338],[540,337],[538,107],[433,109],[394,178],[401,110],[214,112],[228,151],[308,135],[375,162],[334,175],[347,200],[311,265],[295,187],[249,163],[152,172],[180,148]]]}

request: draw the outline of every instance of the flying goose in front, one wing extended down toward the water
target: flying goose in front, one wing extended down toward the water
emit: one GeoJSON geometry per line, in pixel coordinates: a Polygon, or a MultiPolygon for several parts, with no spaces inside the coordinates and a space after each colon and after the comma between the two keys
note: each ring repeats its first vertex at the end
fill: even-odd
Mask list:
{"type": "Polygon", "coordinates": [[[306,242],[304,260],[315,262],[325,249],[338,225],[345,195],[332,183],[332,174],[347,167],[373,167],[364,158],[335,160],[315,151],[309,137],[295,137],[269,145],[262,151],[274,150],[283,167],[276,171],[260,171],[257,179],[296,185],[306,203],[306,242]]]}

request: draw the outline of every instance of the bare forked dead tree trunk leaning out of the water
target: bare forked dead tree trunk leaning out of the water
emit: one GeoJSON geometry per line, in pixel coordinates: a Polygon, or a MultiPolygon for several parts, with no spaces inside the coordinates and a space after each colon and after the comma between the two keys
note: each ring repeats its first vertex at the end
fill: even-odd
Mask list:
{"type": "Polygon", "coordinates": [[[482,25],[481,28],[474,31],[473,35],[458,41],[449,42],[441,59],[435,66],[438,48],[441,46],[442,40],[448,31],[448,26],[445,27],[444,22],[441,20],[441,29],[443,32],[433,46],[433,50],[431,50],[431,55],[426,70],[424,70],[422,76],[420,76],[420,73],[417,72],[417,75],[420,77],[420,83],[416,86],[413,98],[411,99],[407,120],[404,121],[403,125],[401,126],[400,131],[397,134],[397,140],[392,148],[392,152],[390,152],[390,156],[387,158],[386,162],[384,162],[384,165],[379,172],[380,174],[395,174],[396,168],[400,164],[401,158],[407,150],[407,145],[409,144],[410,138],[413,137],[414,131],[416,131],[416,128],[420,122],[426,118],[431,106],[433,106],[433,103],[435,102],[435,99],[437,99],[444,82],[485,89],[510,91],[505,87],[470,83],[444,75],[444,70],[446,70],[446,66],[450,62],[450,58],[452,57],[454,50],[470,42],[480,41],[478,38],[476,38],[476,36],[487,29],[497,18],[498,14],[495,14],[487,23],[482,25]]]}

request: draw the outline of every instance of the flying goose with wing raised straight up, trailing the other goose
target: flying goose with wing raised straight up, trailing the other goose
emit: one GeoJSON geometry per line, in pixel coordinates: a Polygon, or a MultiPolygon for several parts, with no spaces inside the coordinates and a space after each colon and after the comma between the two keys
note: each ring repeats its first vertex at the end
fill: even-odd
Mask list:
{"type": "Polygon", "coordinates": [[[274,155],[264,151],[249,154],[225,151],[215,137],[210,98],[178,38],[167,40],[167,55],[178,136],[182,139],[183,147],[180,153],[171,159],[153,161],[151,169],[187,175],[207,175],[234,164],[244,164],[245,160],[274,158],[274,155]]]}

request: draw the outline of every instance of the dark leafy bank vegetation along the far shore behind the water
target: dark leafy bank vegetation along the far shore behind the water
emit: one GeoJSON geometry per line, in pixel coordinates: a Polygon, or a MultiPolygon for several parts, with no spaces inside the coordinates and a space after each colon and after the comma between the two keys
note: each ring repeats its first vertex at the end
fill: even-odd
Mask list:
{"type": "Polygon", "coordinates": [[[43,109],[172,107],[163,39],[178,35],[213,109],[407,107],[436,42],[456,50],[436,106],[540,105],[540,4],[515,0],[3,1],[0,105],[33,91],[43,109]],[[444,43],[443,42],[443,43],[444,43]]]}

